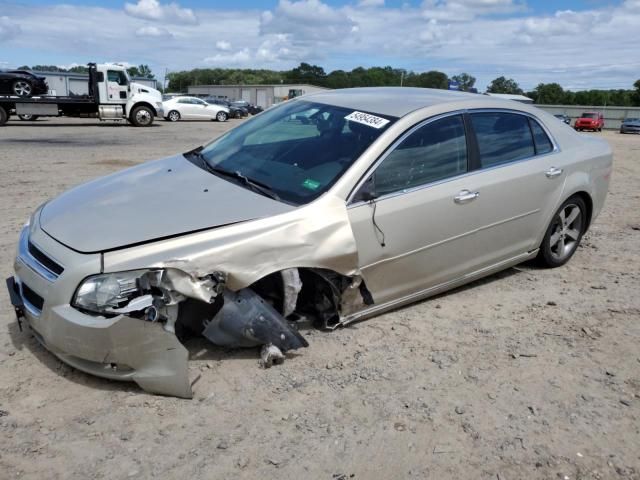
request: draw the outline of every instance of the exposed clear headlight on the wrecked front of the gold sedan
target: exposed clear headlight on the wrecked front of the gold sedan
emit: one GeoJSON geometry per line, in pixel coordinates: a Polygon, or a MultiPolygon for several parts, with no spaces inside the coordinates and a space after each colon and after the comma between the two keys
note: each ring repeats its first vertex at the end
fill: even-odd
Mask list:
{"type": "Polygon", "coordinates": [[[106,273],[85,278],[73,297],[71,305],[95,313],[119,313],[134,298],[152,291],[149,275],[161,275],[161,270],[131,270],[106,273]]]}

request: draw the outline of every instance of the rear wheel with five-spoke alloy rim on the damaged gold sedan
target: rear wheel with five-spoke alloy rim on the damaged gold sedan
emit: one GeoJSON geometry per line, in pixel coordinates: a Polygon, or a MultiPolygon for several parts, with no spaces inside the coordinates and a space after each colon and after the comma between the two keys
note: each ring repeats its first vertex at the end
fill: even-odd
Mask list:
{"type": "Polygon", "coordinates": [[[580,245],[587,225],[587,205],[579,196],[567,199],[556,211],[540,245],[537,261],[549,268],[561,267],[580,245]]]}

